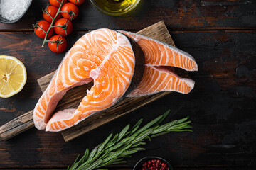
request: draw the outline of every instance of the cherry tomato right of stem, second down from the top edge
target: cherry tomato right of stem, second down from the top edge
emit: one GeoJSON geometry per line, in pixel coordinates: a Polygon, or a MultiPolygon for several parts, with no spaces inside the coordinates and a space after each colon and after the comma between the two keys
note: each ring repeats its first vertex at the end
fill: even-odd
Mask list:
{"type": "Polygon", "coordinates": [[[64,4],[60,11],[66,12],[66,13],[61,13],[61,16],[63,16],[63,18],[66,18],[70,21],[72,21],[73,19],[78,17],[78,6],[75,6],[75,4],[72,3],[67,3],[64,4]]]}

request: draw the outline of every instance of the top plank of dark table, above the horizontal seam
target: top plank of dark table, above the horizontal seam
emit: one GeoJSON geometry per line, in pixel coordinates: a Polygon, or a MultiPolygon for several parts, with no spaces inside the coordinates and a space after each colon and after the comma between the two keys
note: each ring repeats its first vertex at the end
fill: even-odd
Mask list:
{"type": "MultiPolygon", "coordinates": [[[[0,23],[1,31],[33,30],[31,25],[42,18],[41,8],[47,0],[33,1],[26,16],[15,24],[0,23]],[[33,6],[33,7],[32,7],[33,6]]],[[[106,16],[85,1],[79,6],[79,16],[73,22],[75,30],[115,28],[142,30],[161,20],[171,30],[255,29],[255,0],[141,0],[136,10],[122,17],[106,16]]]]}

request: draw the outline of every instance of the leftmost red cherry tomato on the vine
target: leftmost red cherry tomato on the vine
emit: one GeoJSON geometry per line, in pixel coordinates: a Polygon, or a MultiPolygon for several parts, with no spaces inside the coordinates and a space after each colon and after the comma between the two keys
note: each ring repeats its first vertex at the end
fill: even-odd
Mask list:
{"type": "MultiPolygon", "coordinates": [[[[47,21],[41,20],[41,21],[38,21],[34,26],[34,32],[36,33],[36,35],[38,35],[39,38],[45,38],[46,33],[43,30],[47,32],[49,27],[50,27],[50,23],[48,23],[47,21]]],[[[51,35],[53,35],[53,28],[50,29],[50,32],[48,33],[47,38],[49,38],[51,35]]]]}

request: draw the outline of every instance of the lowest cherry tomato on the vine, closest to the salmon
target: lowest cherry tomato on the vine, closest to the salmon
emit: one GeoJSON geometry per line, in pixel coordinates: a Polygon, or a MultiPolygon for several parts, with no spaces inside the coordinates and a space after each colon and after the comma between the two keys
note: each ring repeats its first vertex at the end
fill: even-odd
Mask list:
{"type": "Polygon", "coordinates": [[[48,42],[48,47],[52,52],[60,53],[64,52],[67,48],[67,40],[61,35],[53,35],[50,38],[50,41],[54,42],[48,42]]]}

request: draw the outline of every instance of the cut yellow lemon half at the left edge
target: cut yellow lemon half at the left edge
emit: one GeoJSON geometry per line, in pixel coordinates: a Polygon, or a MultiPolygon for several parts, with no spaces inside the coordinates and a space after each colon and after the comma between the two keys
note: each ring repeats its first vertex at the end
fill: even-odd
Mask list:
{"type": "Polygon", "coordinates": [[[0,55],[0,97],[17,94],[26,84],[26,68],[15,57],[0,55]]]}

